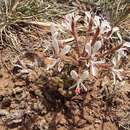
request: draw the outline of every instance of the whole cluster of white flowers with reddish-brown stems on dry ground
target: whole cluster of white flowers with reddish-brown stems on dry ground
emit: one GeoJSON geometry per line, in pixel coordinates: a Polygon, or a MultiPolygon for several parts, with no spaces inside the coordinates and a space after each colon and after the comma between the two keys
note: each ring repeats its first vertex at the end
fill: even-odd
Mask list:
{"type": "Polygon", "coordinates": [[[65,64],[70,65],[70,69],[75,68],[68,71],[75,82],[70,88],[74,88],[76,94],[87,91],[87,81],[101,78],[103,72],[116,85],[117,80],[124,79],[125,68],[120,63],[127,58],[129,47],[130,43],[122,39],[119,28],[112,27],[103,16],[89,11],[83,15],[73,12],[64,17],[60,31],[54,23],[51,25],[48,49],[52,53],[46,54],[46,70],[61,72],[65,64]],[[71,40],[61,40],[62,35],[71,40]]]}

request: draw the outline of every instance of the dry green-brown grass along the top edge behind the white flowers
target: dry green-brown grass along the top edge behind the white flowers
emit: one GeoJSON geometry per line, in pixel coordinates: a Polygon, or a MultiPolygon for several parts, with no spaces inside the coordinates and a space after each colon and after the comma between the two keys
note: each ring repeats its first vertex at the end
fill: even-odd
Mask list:
{"type": "MultiPolygon", "coordinates": [[[[126,0],[93,0],[84,2],[94,3],[98,7],[102,7],[107,19],[110,19],[113,24],[120,23],[126,18],[127,3],[126,0]],[[114,17],[113,17],[114,16],[114,17]]],[[[62,2],[57,4],[56,1],[46,0],[1,0],[0,1],[0,38],[1,45],[7,45],[5,39],[10,39],[10,44],[18,43],[16,36],[11,32],[10,25],[18,25],[21,21],[58,21],[65,14],[70,13],[76,8],[74,2],[62,2]],[[5,38],[6,37],[6,38],[5,38]],[[9,38],[10,37],[10,38],[9,38]],[[15,43],[16,42],[16,43],[15,43]]],[[[125,30],[126,31],[126,30],[125,30]]]]}

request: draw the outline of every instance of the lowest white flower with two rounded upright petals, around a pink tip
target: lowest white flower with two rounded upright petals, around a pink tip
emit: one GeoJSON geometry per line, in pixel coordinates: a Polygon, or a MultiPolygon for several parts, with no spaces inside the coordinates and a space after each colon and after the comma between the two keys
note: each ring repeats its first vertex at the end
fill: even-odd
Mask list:
{"type": "Polygon", "coordinates": [[[83,84],[85,80],[87,80],[89,73],[87,70],[85,70],[81,75],[79,75],[75,70],[72,70],[70,72],[71,77],[76,81],[76,84],[74,84],[71,88],[83,88],[85,91],[87,91],[86,86],[83,84]]]}

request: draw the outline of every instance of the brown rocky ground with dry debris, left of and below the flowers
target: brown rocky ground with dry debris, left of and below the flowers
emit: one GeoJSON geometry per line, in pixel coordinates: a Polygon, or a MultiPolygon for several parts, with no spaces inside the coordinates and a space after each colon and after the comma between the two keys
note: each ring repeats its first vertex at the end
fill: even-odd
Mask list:
{"type": "Polygon", "coordinates": [[[7,39],[1,46],[0,130],[129,130],[129,79],[120,89],[97,81],[87,93],[66,96],[63,80],[45,73],[42,44],[48,28],[12,25],[7,35],[19,43],[12,46],[7,39]]]}

